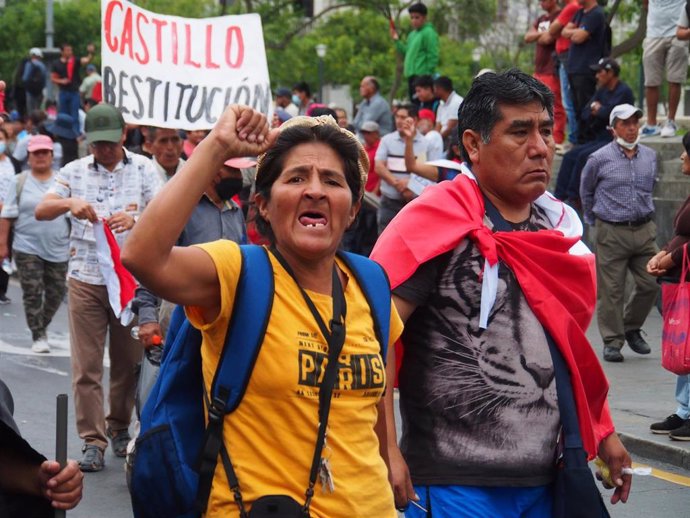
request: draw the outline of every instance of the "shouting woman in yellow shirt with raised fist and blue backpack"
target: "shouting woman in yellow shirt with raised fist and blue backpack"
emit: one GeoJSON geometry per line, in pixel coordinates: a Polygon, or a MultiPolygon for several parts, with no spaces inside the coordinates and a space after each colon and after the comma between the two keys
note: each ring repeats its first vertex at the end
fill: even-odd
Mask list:
{"type": "MultiPolygon", "coordinates": [[[[381,314],[374,301],[391,301],[380,267],[361,256],[337,253],[361,205],[368,162],[357,138],[330,117],[293,117],[269,133],[264,115],[231,105],[168,182],[165,194],[147,207],[125,244],[125,267],[162,297],[185,305],[203,337],[200,365],[206,396],[186,378],[184,390],[199,392],[198,405],[210,398],[208,440],[192,448],[204,452],[199,469],[199,495],[204,498],[197,503],[207,518],[396,516],[380,452],[385,437],[376,432],[385,429],[385,351],[392,350],[388,346],[402,326],[390,305],[384,318],[376,316],[381,314]],[[223,162],[255,155],[260,155],[257,227],[270,246],[216,241],[174,247],[223,162]],[[252,272],[262,263],[266,274],[247,286],[245,280],[256,278],[252,272]],[[362,264],[383,280],[384,289],[367,289],[371,279],[362,274],[362,264]],[[246,316],[238,297],[246,287],[251,296],[245,302],[251,303],[266,286],[265,318],[246,316]],[[256,322],[247,325],[245,316],[256,322]],[[263,332],[240,388],[243,396],[228,409],[234,389],[227,386],[233,380],[225,379],[231,362],[224,360],[244,355],[242,349],[250,344],[228,348],[226,334],[257,327],[263,332]]],[[[174,383],[163,379],[167,361],[161,386],[174,383]]],[[[165,434],[158,432],[164,431],[152,428],[138,441],[133,478],[138,517],[189,512],[175,504],[187,496],[179,492],[170,514],[140,507],[147,503],[142,500],[166,496],[137,487],[137,463],[144,458],[146,440],[163,439],[165,434]]],[[[168,475],[172,452],[162,450],[165,465],[156,466],[153,482],[168,475]]],[[[171,469],[181,473],[179,466],[171,469]]]]}

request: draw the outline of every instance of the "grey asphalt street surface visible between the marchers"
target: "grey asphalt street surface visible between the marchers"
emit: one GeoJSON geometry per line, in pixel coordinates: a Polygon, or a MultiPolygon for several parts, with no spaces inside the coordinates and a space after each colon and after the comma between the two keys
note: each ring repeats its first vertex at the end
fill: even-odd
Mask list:
{"type": "MultiPolygon", "coordinates": [[[[66,308],[63,305],[60,309],[49,333],[51,342],[57,347],[49,355],[37,355],[30,349],[21,292],[16,282],[12,281],[8,295],[13,303],[0,306],[0,378],[14,393],[19,427],[39,451],[54,455],[55,396],[69,394],[68,451],[70,457],[79,458],[81,443],[76,434],[71,403],[66,308]]],[[[685,517],[690,515],[690,444],[671,443],[665,436],[648,432],[650,422],[663,419],[675,409],[675,380],[660,366],[661,319],[656,310],[645,330],[654,349],[650,356],[641,357],[624,349],[624,363],[606,364],[604,367],[611,383],[610,404],[617,427],[632,449],[635,462],[652,466],[655,476],[636,477],[629,503],[616,505],[611,514],[614,518],[685,517]]],[[[589,336],[599,350],[599,337],[594,325],[589,336]]],[[[107,452],[106,463],[103,472],[87,474],[84,500],[68,516],[131,516],[123,461],[107,452]]]]}

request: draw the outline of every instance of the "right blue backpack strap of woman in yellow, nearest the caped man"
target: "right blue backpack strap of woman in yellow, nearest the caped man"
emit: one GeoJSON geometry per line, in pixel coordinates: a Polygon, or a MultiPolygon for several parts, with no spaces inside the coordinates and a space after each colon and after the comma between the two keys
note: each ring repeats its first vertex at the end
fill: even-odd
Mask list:
{"type": "Polygon", "coordinates": [[[381,357],[386,362],[390,337],[391,285],[380,264],[350,252],[338,252],[338,256],[355,274],[357,283],[371,308],[376,339],[381,345],[381,357]]]}

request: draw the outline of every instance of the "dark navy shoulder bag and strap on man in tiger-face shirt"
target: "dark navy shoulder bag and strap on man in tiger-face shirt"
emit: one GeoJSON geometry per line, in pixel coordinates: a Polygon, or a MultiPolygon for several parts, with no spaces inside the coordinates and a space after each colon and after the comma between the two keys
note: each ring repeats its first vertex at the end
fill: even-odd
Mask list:
{"type": "MultiPolygon", "coordinates": [[[[486,196],[484,196],[484,207],[495,230],[503,232],[513,230],[486,196]]],[[[594,476],[587,465],[587,452],[580,436],[580,423],[568,366],[556,342],[546,329],[544,329],[544,334],[553,361],[558,411],[561,416],[551,518],[610,518],[594,476]]]]}

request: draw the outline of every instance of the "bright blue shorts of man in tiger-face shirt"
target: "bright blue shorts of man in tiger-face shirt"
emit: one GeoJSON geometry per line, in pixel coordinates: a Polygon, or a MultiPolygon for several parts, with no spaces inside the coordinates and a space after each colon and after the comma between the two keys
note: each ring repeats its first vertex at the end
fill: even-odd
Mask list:
{"type": "Polygon", "coordinates": [[[551,486],[477,487],[414,486],[419,505],[410,504],[405,518],[551,518],[551,486]]]}

